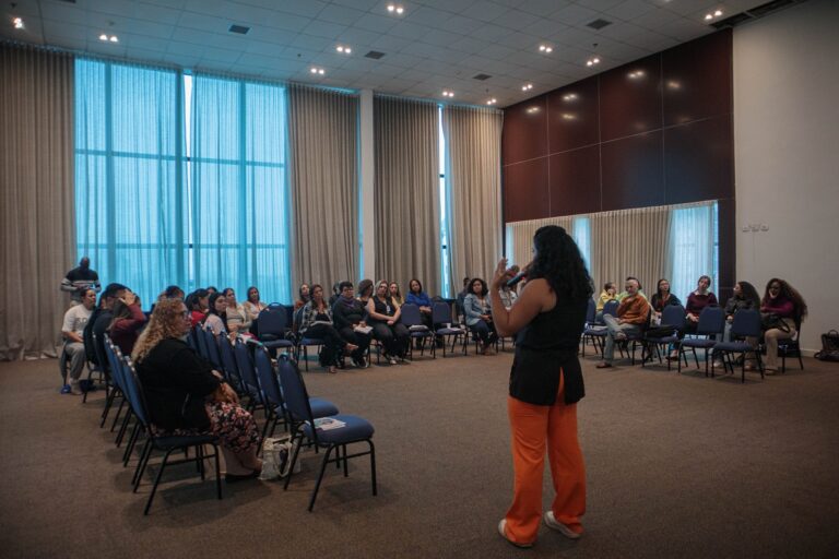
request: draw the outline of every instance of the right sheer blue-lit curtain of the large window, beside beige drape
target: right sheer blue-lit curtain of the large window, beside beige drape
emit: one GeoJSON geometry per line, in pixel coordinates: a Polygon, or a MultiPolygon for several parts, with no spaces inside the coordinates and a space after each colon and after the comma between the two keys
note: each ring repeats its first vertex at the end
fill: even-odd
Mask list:
{"type": "Polygon", "coordinates": [[[191,98],[191,271],[197,286],[257,285],[291,300],[285,92],[197,74],[191,98]]]}

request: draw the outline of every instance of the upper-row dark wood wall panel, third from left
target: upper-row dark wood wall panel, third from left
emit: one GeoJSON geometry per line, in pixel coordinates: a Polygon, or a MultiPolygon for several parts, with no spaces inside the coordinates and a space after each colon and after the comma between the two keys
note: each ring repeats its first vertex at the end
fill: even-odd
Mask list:
{"type": "Polygon", "coordinates": [[[661,128],[661,56],[600,75],[602,142],[661,128]]]}

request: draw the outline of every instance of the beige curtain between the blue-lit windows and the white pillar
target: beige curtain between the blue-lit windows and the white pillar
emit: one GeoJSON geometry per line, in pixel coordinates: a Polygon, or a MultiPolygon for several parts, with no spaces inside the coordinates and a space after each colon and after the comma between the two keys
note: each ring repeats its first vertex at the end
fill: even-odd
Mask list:
{"type": "Polygon", "coordinates": [[[355,282],[358,270],[358,98],[288,87],[292,293],[300,283],[355,282]]]}

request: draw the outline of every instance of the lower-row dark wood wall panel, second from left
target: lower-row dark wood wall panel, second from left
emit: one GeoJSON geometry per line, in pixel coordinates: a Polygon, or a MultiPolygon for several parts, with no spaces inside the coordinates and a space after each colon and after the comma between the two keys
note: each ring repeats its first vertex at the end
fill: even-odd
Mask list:
{"type": "Polygon", "coordinates": [[[600,211],[600,146],[554,154],[550,171],[551,215],[600,211]]]}

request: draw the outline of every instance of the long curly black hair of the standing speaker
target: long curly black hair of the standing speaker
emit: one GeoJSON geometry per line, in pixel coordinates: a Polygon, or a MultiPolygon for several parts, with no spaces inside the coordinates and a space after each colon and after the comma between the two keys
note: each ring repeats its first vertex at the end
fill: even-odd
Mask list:
{"type": "Polygon", "coordinates": [[[544,277],[559,296],[570,300],[591,298],[594,284],[586,270],[580,249],[557,225],[545,225],[533,236],[535,255],[528,270],[528,280],[544,277]]]}

